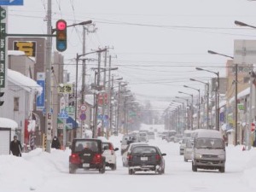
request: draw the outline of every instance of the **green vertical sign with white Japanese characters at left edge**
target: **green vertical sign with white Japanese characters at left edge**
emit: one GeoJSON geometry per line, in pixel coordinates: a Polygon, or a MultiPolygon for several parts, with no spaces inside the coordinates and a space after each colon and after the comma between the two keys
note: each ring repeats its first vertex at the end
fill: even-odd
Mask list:
{"type": "Polygon", "coordinates": [[[0,88],[4,88],[6,84],[6,12],[6,8],[0,7],[0,88]]]}

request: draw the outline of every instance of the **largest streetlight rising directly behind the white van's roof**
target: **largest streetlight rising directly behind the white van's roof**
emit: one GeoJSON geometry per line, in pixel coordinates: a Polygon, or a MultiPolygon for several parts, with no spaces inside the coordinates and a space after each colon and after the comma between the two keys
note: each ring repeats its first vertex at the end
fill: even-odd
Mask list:
{"type": "Polygon", "coordinates": [[[217,86],[215,89],[215,124],[216,124],[216,130],[219,131],[219,73],[218,72],[212,72],[207,69],[203,69],[201,67],[195,67],[196,70],[198,71],[205,71],[209,73],[214,73],[217,75],[217,86]]]}

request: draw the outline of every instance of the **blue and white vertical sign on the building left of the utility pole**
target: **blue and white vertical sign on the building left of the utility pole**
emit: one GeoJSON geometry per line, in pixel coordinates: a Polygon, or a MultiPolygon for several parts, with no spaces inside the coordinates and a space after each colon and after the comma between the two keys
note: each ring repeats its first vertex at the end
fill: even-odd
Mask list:
{"type": "Polygon", "coordinates": [[[45,73],[37,73],[37,83],[42,86],[43,91],[40,96],[37,97],[37,111],[44,110],[44,96],[45,96],[45,73]]]}

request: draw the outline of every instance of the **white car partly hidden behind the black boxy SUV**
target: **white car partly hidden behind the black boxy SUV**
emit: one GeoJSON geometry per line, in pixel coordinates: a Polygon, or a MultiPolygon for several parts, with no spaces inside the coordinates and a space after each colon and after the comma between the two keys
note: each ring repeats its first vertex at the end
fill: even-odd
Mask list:
{"type": "Polygon", "coordinates": [[[119,148],[113,148],[113,144],[110,142],[103,142],[103,156],[106,158],[106,166],[109,166],[112,170],[116,170],[116,154],[115,151],[119,148]]]}

